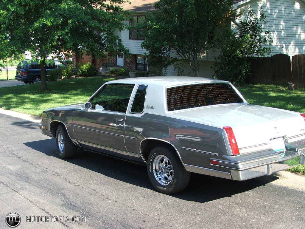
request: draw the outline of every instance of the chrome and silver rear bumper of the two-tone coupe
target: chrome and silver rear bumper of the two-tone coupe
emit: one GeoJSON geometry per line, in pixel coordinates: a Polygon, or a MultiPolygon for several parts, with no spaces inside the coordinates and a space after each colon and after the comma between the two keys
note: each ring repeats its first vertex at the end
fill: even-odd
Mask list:
{"type": "Polygon", "coordinates": [[[209,168],[193,165],[185,165],[185,168],[194,173],[231,180],[248,180],[305,164],[304,136],[297,141],[285,143],[285,147],[286,150],[280,152],[267,149],[236,156],[210,158],[209,168]]]}

